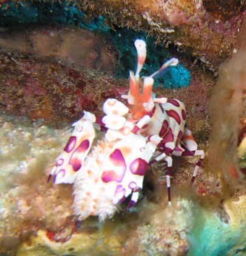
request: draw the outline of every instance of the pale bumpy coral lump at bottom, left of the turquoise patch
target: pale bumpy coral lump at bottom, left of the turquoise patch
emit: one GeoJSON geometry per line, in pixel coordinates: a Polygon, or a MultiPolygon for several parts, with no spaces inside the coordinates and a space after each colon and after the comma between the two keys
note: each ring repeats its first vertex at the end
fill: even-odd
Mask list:
{"type": "MultiPolygon", "coordinates": [[[[162,204],[162,203],[161,203],[162,204]]],[[[122,252],[127,255],[186,255],[187,234],[193,227],[195,207],[189,199],[177,198],[172,207],[142,206],[143,223],[132,229],[122,252]]]]}

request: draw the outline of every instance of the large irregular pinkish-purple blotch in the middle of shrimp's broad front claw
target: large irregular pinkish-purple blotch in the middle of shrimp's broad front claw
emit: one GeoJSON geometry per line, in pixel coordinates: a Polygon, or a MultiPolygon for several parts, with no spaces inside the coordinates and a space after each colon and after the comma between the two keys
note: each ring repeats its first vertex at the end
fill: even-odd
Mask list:
{"type": "Polygon", "coordinates": [[[113,165],[114,170],[103,171],[101,179],[103,182],[117,181],[121,182],[126,172],[126,162],[121,151],[116,148],[109,156],[109,161],[113,165]]]}

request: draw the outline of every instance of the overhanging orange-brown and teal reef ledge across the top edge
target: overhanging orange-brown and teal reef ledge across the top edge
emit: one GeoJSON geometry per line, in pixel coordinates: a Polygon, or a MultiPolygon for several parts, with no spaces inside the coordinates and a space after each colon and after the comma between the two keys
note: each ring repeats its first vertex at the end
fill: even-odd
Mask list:
{"type": "Polygon", "coordinates": [[[2,25],[75,25],[106,33],[109,27],[142,30],[155,36],[164,47],[174,44],[199,58],[213,71],[237,49],[237,32],[245,16],[241,1],[227,1],[228,9],[221,1],[195,0],[16,2],[2,4],[2,25]]]}

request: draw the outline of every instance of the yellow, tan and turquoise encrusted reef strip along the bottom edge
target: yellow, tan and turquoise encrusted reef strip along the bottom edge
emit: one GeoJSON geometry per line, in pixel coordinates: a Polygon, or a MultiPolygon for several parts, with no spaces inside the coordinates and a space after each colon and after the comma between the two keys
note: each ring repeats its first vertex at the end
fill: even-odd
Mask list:
{"type": "Polygon", "coordinates": [[[95,224],[84,224],[64,243],[50,240],[47,232],[39,230],[19,246],[16,255],[245,254],[245,196],[225,201],[222,215],[186,197],[177,197],[166,208],[161,198],[155,203],[143,200],[138,213],[125,216],[124,224],[108,221],[101,231],[95,224]]]}

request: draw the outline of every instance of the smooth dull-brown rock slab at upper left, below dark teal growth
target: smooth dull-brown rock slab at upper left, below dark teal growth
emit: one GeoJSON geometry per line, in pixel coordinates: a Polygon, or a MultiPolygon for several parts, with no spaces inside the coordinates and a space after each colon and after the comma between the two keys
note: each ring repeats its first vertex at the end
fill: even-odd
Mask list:
{"type": "Polygon", "coordinates": [[[75,64],[113,74],[118,65],[114,52],[100,34],[83,29],[42,27],[21,32],[8,29],[1,33],[2,49],[47,59],[52,57],[64,65],[75,64]]]}

